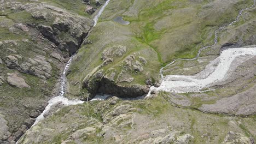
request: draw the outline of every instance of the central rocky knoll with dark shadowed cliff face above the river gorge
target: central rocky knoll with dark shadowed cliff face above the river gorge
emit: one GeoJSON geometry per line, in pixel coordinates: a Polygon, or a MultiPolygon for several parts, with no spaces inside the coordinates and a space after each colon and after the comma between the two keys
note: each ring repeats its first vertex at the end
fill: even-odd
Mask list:
{"type": "Polygon", "coordinates": [[[119,65],[122,67],[121,71],[114,68],[108,71],[103,70],[104,67],[115,63],[116,59],[124,56],[126,52],[126,46],[122,45],[107,47],[102,52],[102,64],[86,75],[83,80],[83,88],[89,91],[90,98],[94,97],[96,93],[111,94],[123,98],[135,98],[148,93],[148,86],[132,83],[134,80],[131,76],[132,73],[141,73],[144,65],[147,64],[146,59],[137,56],[136,53],[127,56],[121,62],[122,65],[119,65]]]}

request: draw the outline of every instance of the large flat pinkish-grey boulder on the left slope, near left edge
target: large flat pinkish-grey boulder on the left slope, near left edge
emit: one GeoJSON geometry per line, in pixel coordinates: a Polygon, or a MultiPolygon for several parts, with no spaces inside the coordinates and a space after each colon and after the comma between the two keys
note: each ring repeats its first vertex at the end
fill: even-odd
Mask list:
{"type": "Polygon", "coordinates": [[[30,88],[29,85],[27,85],[27,83],[25,82],[24,79],[22,79],[21,77],[18,77],[17,74],[7,74],[7,82],[9,83],[10,86],[12,87],[19,87],[19,88],[30,88]]]}

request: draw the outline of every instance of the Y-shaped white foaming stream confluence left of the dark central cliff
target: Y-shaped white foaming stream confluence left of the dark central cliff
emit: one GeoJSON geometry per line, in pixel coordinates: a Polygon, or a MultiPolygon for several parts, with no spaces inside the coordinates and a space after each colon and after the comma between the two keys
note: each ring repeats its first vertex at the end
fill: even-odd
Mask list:
{"type": "MultiPolygon", "coordinates": [[[[66,82],[67,82],[66,74],[67,74],[68,68],[69,68],[74,56],[75,55],[70,57],[69,61],[66,64],[65,69],[63,70],[63,73],[61,76],[61,82],[60,82],[61,83],[60,95],[49,100],[48,105],[45,107],[44,111],[37,117],[36,122],[34,122],[33,125],[36,125],[38,122],[40,122],[42,119],[44,119],[44,114],[46,112],[49,112],[49,110],[51,109],[51,106],[53,106],[53,105],[63,104],[63,105],[68,106],[68,105],[77,105],[77,104],[84,103],[84,101],[81,101],[81,100],[68,100],[67,98],[63,97],[63,95],[66,92],[66,82]]],[[[32,127],[33,127],[33,125],[32,125],[32,127]]]]}

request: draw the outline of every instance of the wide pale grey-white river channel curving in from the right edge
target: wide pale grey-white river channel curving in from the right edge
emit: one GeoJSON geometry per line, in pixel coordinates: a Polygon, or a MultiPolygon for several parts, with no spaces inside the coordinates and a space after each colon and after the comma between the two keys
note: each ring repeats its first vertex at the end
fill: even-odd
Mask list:
{"type": "MultiPolygon", "coordinates": [[[[160,87],[151,87],[152,91],[176,93],[201,92],[200,89],[222,82],[230,69],[231,63],[238,57],[252,58],[256,56],[256,47],[232,48],[222,51],[220,56],[207,65],[206,69],[197,75],[167,75],[160,87]],[[217,66],[215,66],[218,64],[217,66]]],[[[246,60],[245,59],[245,60],[246,60]]],[[[237,66],[237,65],[236,65],[237,66]]],[[[147,97],[149,97],[150,92],[147,97]]]]}

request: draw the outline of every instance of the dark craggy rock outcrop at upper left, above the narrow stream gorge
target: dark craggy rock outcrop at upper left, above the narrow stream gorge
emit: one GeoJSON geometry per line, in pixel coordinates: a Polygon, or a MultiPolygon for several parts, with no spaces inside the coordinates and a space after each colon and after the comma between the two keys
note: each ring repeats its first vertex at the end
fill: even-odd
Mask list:
{"type": "Polygon", "coordinates": [[[27,25],[38,28],[45,38],[71,55],[79,49],[94,23],[87,17],[44,3],[16,3],[11,6],[16,11],[30,13],[37,21],[28,22],[27,25]]]}

